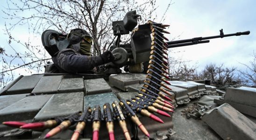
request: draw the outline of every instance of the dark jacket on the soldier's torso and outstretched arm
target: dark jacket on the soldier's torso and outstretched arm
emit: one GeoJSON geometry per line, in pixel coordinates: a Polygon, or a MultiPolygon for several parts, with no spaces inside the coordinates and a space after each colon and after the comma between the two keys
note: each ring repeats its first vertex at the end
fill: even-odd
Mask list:
{"type": "Polygon", "coordinates": [[[60,72],[91,73],[94,67],[104,64],[100,56],[84,56],[74,49],[63,49],[52,57],[60,72]]]}

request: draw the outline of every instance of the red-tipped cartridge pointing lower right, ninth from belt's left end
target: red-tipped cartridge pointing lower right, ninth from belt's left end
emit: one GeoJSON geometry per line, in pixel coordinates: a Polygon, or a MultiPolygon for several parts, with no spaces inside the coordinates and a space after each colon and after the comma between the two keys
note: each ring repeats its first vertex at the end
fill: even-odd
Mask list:
{"type": "MultiPolygon", "coordinates": [[[[135,98],[132,99],[132,100],[127,100],[126,103],[127,103],[128,105],[130,105],[130,106],[135,106],[136,111],[137,111],[137,112],[140,112],[142,115],[147,116],[147,117],[149,117],[150,119],[153,119],[153,120],[155,120],[155,121],[157,121],[157,122],[164,123],[164,121],[163,121],[162,119],[158,118],[157,116],[155,116],[154,114],[150,113],[150,112],[147,111],[146,109],[142,109],[142,108],[140,108],[140,107],[136,107],[136,106],[139,105],[139,106],[143,106],[143,107],[149,109],[150,107],[149,107],[149,105],[146,105],[146,103],[140,102],[140,101],[138,101],[138,100],[136,101],[135,98]]],[[[150,109],[151,109],[151,108],[150,108],[150,109]]],[[[153,110],[151,110],[151,111],[153,112],[153,110]]],[[[155,111],[155,112],[156,112],[156,111],[155,111]]]]}

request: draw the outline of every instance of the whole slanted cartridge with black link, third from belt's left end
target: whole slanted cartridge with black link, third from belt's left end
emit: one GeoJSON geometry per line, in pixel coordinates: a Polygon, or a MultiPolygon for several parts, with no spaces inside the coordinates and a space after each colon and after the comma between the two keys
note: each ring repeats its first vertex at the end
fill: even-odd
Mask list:
{"type": "Polygon", "coordinates": [[[79,113],[74,113],[68,117],[65,118],[63,122],[60,123],[60,125],[56,126],[52,130],[50,130],[45,136],[44,139],[48,139],[57,133],[61,132],[64,129],[67,129],[69,126],[73,125],[76,120],[80,117],[79,113]]]}

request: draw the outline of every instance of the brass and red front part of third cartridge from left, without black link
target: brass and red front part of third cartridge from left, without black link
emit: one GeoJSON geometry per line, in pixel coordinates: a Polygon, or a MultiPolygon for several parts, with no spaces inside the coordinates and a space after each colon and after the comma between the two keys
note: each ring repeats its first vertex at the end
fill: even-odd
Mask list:
{"type": "Polygon", "coordinates": [[[60,125],[56,126],[55,128],[51,129],[50,132],[48,132],[45,136],[44,139],[48,139],[57,133],[61,132],[64,129],[67,129],[69,126],[71,126],[71,121],[69,120],[64,120],[60,125]]]}

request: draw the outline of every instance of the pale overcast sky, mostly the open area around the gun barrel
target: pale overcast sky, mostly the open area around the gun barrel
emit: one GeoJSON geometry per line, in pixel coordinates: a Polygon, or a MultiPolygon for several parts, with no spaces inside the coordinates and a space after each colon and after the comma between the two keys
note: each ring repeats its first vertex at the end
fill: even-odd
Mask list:
{"type": "MultiPolygon", "coordinates": [[[[171,32],[168,38],[179,36],[179,39],[206,37],[219,35],[223,28],[224,34],[250,30],[250,35],[225,37],[210,40],[210,43],[180,47],[173,49],[174,57],[192,60],[199,69],[208,63],[221,64],[238,69],[244,69],[240,63],[248,64],[252,60],[253,51],[256,51],[256,0],[172,0],[173,4],[166,13],[164,23],[170,24],[167,30],[171,32]]],[[[156,13],[161,16],[169,0],[158,0],[156,13]]],[[[6,3],[0,6],[3,9],[6,3]]],[[[5,19],[1,13],[0,46],[8,49],[7,35],[3,35],[5,19]]],[[[138,13],[139,14],[139,13],[138,13]]],[[[7,21],[9,22],[9,21],[7,21]]],[[[15,38],[27,41],[27,27],[15,28],[12,31],[15,38]]],[[[33,36],[33,35],[32,35],[33,36]]],[[[33,37],[32,37],[33,38],[33,37]]],[[[41,38],[33,38],[41,44],[41,38]]]]}

